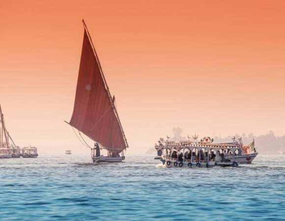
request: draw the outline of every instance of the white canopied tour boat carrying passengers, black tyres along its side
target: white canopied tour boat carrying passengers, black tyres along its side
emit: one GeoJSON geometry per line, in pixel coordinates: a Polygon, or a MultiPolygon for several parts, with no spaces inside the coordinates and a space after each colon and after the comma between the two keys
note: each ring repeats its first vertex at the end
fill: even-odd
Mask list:
{"type": "MultiPolygon", "coordinates": [[[[196,137],[197,138],[197,137],[196,137]]],[[[233,138],[235,139],[235,138],[233,138]]],[[[212,167],[212,166],[238,166],[244,159],[242,151],[253,149],[255,152],[254,141],[241,148],[242,141],[233,140],[230,143],[213,143],[213,139],[205,137],[200,141],[180,141],[174,142],[160,138],[159,145],[155,145],[157,157],[163,165],[167,167],[188,166],[188,167],[212,167]]],[[[257,153],[245,154],[254,158],[257,153]],[[253,157],[254,156],[254,157],[253,157]]],[[[252,162],[251,159],[243,163],[252,162]]]]}

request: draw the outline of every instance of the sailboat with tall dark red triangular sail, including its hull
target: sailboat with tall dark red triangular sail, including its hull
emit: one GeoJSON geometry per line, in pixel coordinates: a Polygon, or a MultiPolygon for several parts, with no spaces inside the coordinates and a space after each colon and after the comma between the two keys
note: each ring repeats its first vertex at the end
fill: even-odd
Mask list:
{"type": "Polygon", "coordinates": [[[78,130],[77,137],[91,149],[94,163],[122,162],[128,142],[115,107],[115,97],[111,96],[84,20],[83,25],[84,39],[74,109],[70,122],[65,122],[78,130]],[[88,145],[81,133],[95,142],[94,147],[88,145]],[[107,156],[100,154],[102,149],[107,150],[107,156]]]}

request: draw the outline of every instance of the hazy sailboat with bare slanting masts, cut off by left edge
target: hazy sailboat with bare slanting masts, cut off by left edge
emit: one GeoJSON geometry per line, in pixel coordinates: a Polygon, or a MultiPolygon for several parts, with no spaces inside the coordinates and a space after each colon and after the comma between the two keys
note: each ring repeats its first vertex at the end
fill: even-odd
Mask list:
{"type": "Polygon", "coordinates": [[[20,148],[15,145],[5,127],[4,115],[0,105],[0,158],[19,158],[20,148]],[[10,140],[12,143],[10,143],[10,140]]]}

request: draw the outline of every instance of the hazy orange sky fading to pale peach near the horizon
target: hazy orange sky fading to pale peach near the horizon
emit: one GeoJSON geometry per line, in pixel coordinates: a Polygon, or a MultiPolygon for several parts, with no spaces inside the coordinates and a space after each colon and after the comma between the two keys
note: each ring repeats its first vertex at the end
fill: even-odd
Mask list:
{"type": "Polygon", "coordinates": [[[2,0],[7,129],[39,153],[89,154],[63,122],[85,19],[130,154],[177,126],[185,136],[285,135],[284,11],[283,0],[2,0]]]}

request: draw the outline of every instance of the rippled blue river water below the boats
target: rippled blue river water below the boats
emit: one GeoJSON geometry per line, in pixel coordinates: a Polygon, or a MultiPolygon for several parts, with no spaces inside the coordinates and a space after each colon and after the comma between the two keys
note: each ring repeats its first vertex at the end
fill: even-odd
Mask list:
{"type": "Polygon", "coordinates": [[[164,168],[152,157],[0,160],[0,220],[285,220],[285,157],[164,168]]]}

